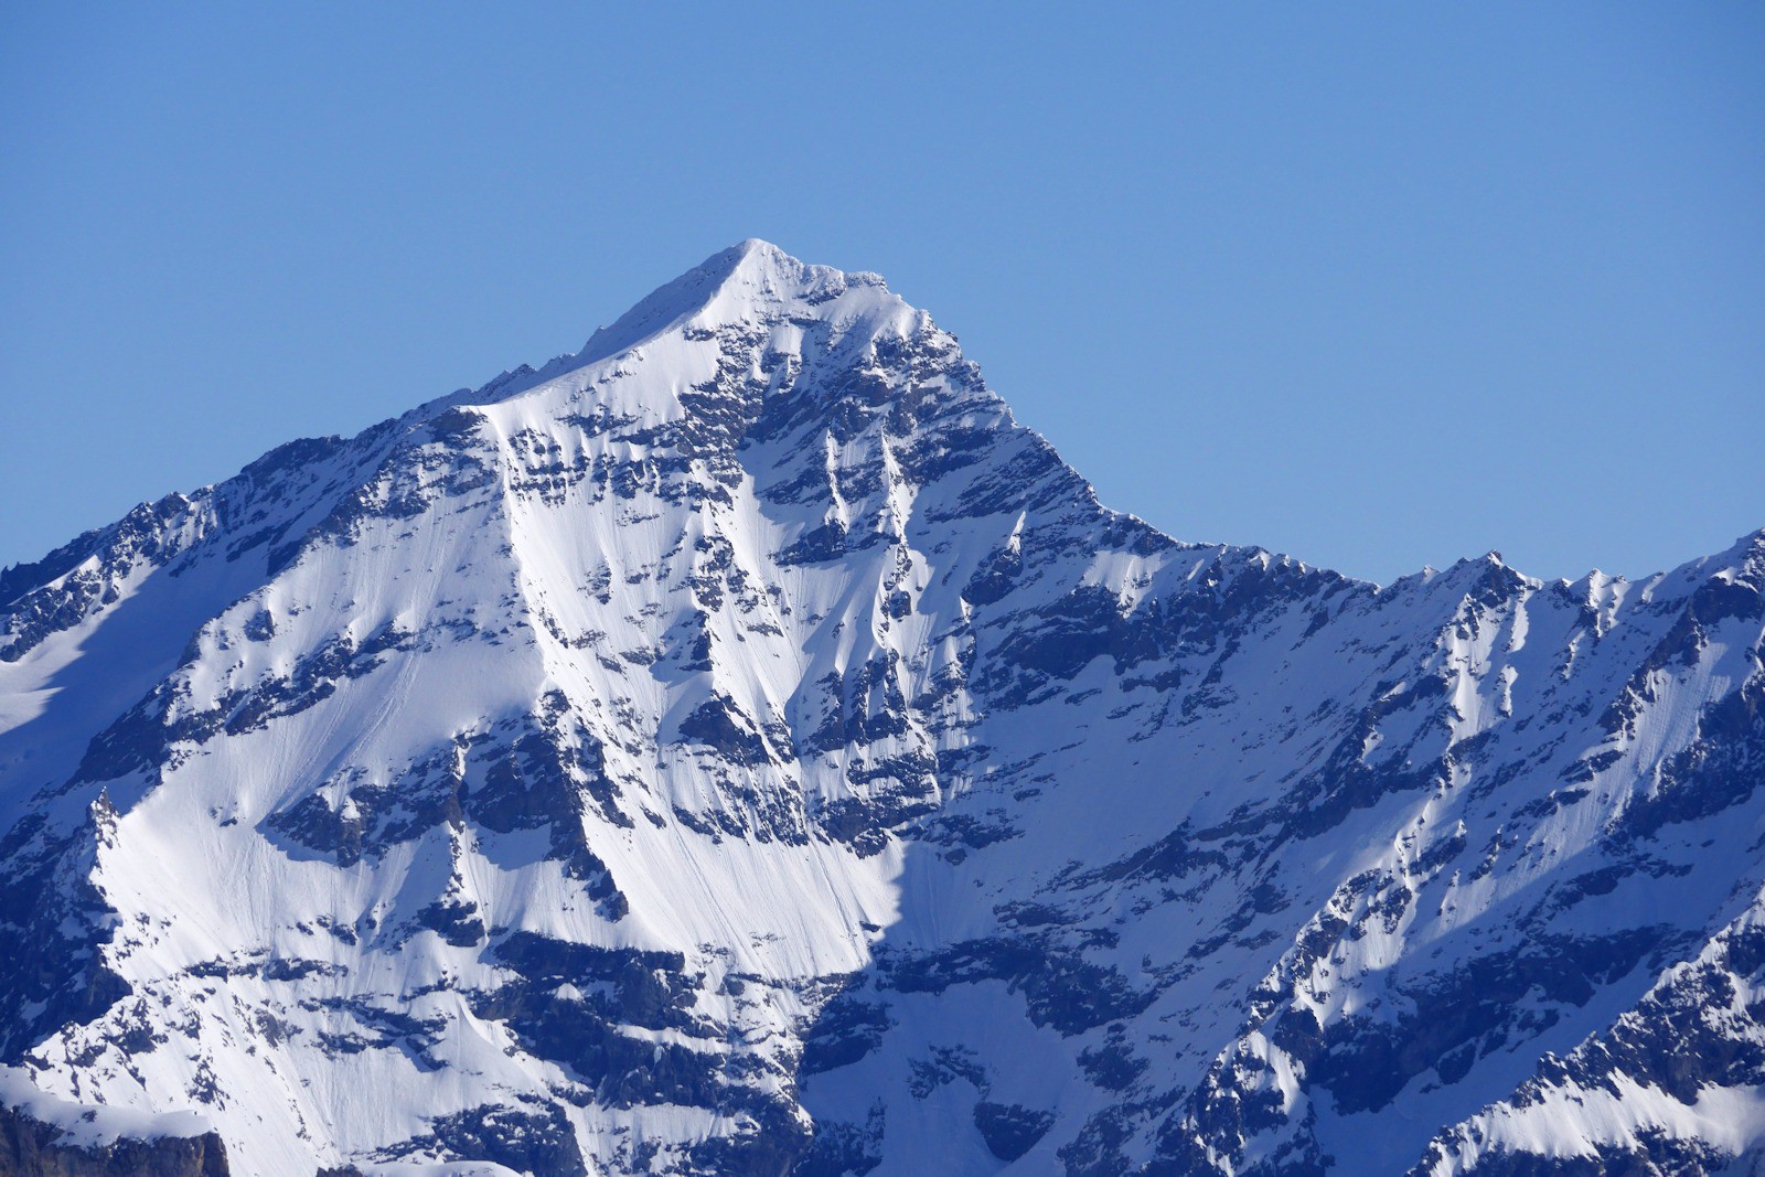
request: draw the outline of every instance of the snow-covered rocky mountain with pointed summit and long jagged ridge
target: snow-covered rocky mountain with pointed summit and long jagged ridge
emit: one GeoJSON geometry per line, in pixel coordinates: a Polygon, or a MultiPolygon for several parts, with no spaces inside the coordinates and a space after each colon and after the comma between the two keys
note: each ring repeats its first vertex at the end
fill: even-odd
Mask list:
{"type": "Polygon", "coordinates": [[[1179,544],[748,242],[0,574],[0,1094],[300,1177],[1749,1172],[1761,591],[1179,544]]]}

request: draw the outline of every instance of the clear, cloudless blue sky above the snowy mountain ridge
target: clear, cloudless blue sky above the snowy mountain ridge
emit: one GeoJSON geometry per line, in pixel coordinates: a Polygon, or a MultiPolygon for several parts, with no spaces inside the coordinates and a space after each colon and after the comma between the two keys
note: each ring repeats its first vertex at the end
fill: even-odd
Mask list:
{"type": "Polygon", "coordinates": [[[1765,524],[1765,5],[0,9],[0,563],[879,270],[1114,506],[1377,581],[1765,524]]]}

